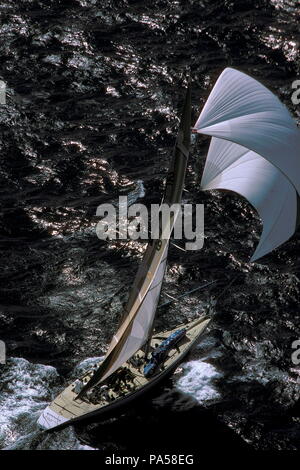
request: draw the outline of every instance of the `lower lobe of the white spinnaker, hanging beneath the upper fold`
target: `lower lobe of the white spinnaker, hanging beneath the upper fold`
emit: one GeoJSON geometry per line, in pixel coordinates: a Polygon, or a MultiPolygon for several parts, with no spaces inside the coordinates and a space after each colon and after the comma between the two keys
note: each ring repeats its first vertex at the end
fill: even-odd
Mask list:
{"type": "Polygon", "coordinates": [[[274,165],[245,147],[213,137],[201,187],[234,191],[255,207],[263,232],[251,261],[274,250],[296,230],[294,186],[274,165]]]}

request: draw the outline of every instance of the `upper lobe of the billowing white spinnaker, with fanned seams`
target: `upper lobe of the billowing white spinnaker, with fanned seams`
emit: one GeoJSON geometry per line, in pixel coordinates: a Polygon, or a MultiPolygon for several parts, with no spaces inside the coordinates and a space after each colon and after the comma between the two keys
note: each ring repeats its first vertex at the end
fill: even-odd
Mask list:
{"type": "Polygon", "coordinates": [[[226,68],[195,129],[258,153],[281,170],[300,194],[300,131],[287,108],[253,78],[226,68]]]}

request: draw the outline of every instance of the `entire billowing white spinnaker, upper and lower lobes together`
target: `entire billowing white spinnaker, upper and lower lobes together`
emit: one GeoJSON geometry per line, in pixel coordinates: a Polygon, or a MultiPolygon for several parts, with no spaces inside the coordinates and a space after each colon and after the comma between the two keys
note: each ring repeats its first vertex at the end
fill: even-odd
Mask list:
{"type": "Polygon", "coordinates": [[[251,261],[288,240],[299,219],[300,131],[287,108],[253,78],[226,68],[194,129],[213,136],[202,189],[239,193],[262,218],[251,261]]]}

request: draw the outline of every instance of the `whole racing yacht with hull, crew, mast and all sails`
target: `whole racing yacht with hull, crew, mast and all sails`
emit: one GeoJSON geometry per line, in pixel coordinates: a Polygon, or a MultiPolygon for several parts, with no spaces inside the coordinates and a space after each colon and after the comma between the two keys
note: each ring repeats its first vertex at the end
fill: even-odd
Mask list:
{"type": "MultiPolygon", "coordinates": [[[[212,137],[201,189],[240,194],[263,221],[251,261],[287,241],[298,225],[300,194],[300,131],[287,108],[252,77],[226,68],[191,128],[188,87],[162,201],[165,204],[181,203],[191,131],[212,137]]],[[[42,412],[38,420],[42,428],[57,429],[86,418],[108,417],[172,373],[206,330],[211,319],[203,315],[158,336],[154,333],[169,227],[174,226],[176,216],[171,213],[160,238],[148,244],[124,320],[103,361],[71,383],[42,412]]]]}

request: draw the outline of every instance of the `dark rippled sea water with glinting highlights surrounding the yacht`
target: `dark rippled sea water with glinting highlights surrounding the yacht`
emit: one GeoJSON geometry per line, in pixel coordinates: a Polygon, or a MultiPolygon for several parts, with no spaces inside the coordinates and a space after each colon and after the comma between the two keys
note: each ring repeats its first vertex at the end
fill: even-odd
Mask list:
{"type": "Polygon", "coordinates": [[[292,0],[1,3],[2,448],[197,453],[215,439],[229,449],[299,450],[299,235],[248,262],[260,221],[238,196],[199,191],[205,137],[193,144],[185,193],[205,204],[205,246],[171,247],[163,293],[219,282],[158,315],[159,325],[175,325],[214,300],[204,341],[122,417],[51,436],[36,428],[78,364],[104,354],[144,249],[101,242],[97,206],[120,195],[159,203],[187,74],[193,119],[232,66],[299,122],[299,13],[292,0]]]}

